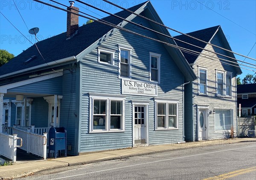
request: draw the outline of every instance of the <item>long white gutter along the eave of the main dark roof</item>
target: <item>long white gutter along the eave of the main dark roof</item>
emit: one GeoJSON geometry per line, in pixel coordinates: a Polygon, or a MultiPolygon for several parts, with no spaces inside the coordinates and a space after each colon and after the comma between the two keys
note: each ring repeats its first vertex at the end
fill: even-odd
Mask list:
{"type": "Polygon", "coordinates": [[[10,76],[10,75],[15,75],[15,74],[18,74],[18,73],[23,73],[23,72],[26,72],[26,71],[29,71],[29,70],[35,70],[35,69],[38,69],[38,68],[41,68],[41,67],[46,67],[46,66],[51,66],[51,65],[54,65],[54,64],[67,62],[67,61],[72,61],[72,60],[75,60],[75,59],[76,59],[76,56],[70,56],[68,58],[63,58],[63,59],[60,59],[60,60],[57,60],[57,61],[52,61],[52,62],[49,62],[49,63],[40,64],[40,65],[34,66],[34,67],[29,67],[29,68],[26,68],[24,70],[19,70],[19,71],[15,71],[15,72],[12,72],[12,73],[5,74],[5,75],[0,75],[0,78],[4,78],[4,77],[10,76]]]}

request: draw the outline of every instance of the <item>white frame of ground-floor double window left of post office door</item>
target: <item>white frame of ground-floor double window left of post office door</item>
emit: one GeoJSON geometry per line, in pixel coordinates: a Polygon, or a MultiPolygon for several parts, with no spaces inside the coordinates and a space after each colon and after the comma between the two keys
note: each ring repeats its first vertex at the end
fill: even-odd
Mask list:
{"type": "Polygon", "coordinates": [[[90,131],[89,133],[111,133],[111,132],[124,132],[125,131],[125,98],[114,97],[114,96],[99,96],[90,95],[90,131]],[[106,101],[106,117],[105,117],[105,130],[93,129],[93,103],[94,100],[105,100],[106,101]],[[122,101],[122,119],[121,129],[111,129],[110,117],[111,117],[111,101],[122,101]]]}

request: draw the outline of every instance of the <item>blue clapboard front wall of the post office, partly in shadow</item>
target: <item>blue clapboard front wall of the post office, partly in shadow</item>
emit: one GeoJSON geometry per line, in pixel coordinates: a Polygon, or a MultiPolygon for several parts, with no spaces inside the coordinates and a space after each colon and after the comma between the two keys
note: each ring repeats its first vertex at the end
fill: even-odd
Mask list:
{"type": "MultiPolygon", "coordinates": [[[[140,17],[135,17],[134,22],[143,22],[144,26],[151,25],[140,17]]],[[[152,32],[135,28],[127,24],[127,29],[132,29],[152,38],[158,38],[152,32]]],[[[81,62],[81,139],[80,151],[100,151],[132,146],[132,100],[149,101],[148,128],[149,144],[164,144],[182,141],[183,139],[183,87],[184,75],[169,56],[163,44],[145,38],[137,37],[126,32],[117,31],[105,39],[101,47],[115,50],[114,65],[98,63],[98,50],[93,49],[81,62]],[[158,97],[177,99],[179,101],[178,130],[155,131],[155,102],[151,96],[127,95],[125,99],[125,132],[118,133],[93,133],[89,134],[90,104],[88,93],[122,94],[122,81],[118,78],[118,46],[128,46],[132,49],[131,79],[149,81],[149,52],[161,54],[160,79],[158,84],[158,97]]]]}

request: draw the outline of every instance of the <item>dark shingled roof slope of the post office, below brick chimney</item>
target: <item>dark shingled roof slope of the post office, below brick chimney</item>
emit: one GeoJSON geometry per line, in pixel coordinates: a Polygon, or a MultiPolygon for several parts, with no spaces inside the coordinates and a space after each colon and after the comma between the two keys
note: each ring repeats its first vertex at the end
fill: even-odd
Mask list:
{"type": "MultiPolygon", "coordinates": [[[[148,1],[147,1],[148,2],[148,1]]],[[[129,10],[135,12],[140,9],[145,3],[138,4],[129,8],[129,10]]],[[[121,11],[116,13],[116,15],[127,18],[131,13],[127,11],[121,11]]],[[[122,22],[121,19],[113,16],[108,16],[102,18],[115,25],[122,22]]],[[[24,70],[29,67],[34,67],[37,65],[49,63],[62,58],[67,58],[70,56],[76,56],[84,49],[89,47],[91,44],[96,42],[99,38],[105,35],[113,29],[111,26],[104,25],[102,23],[93,22],[84,26],[79,27],[78,34],[73,38],[66,40],[66,32],[56,35],[52,38],[45,39],[37,43],[38,49],[42,53],[44,59],[39,54],[35,45],[29,47],[24,52],[17,55],[15,58],[10,60],[8,63],[0,67],[0,75],[5,75],[7,73],[13,73],[19,70],[24,70]],[[36,55],[32,61],[24,64],[23,62],[29,59],[31,56],[36,55]]]]}

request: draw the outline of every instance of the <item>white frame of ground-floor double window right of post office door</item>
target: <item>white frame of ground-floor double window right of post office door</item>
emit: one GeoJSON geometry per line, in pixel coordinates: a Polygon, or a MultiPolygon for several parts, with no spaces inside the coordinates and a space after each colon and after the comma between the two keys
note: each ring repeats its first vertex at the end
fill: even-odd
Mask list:
{"type": "Polygon", "coordinates": [[[179,115],[178,115],[178,112],[179,112],[179,102],[176,101],[176,100],[158,100],[158,99],[155,99],[155,131],[166,131],[166,130],[177,130],[179,129],[179,115]],[[165,105],[165,108],[166,108],[166,127],[164,128],[158,128],[157,127],[157,104],[158,103],[164,103],[166,104],[165,105]],[[176,104],[176,124],[177,124],[177,127],[176,128],[172,128],[172,127],[169,127],[169,104],[176,104]]]}

